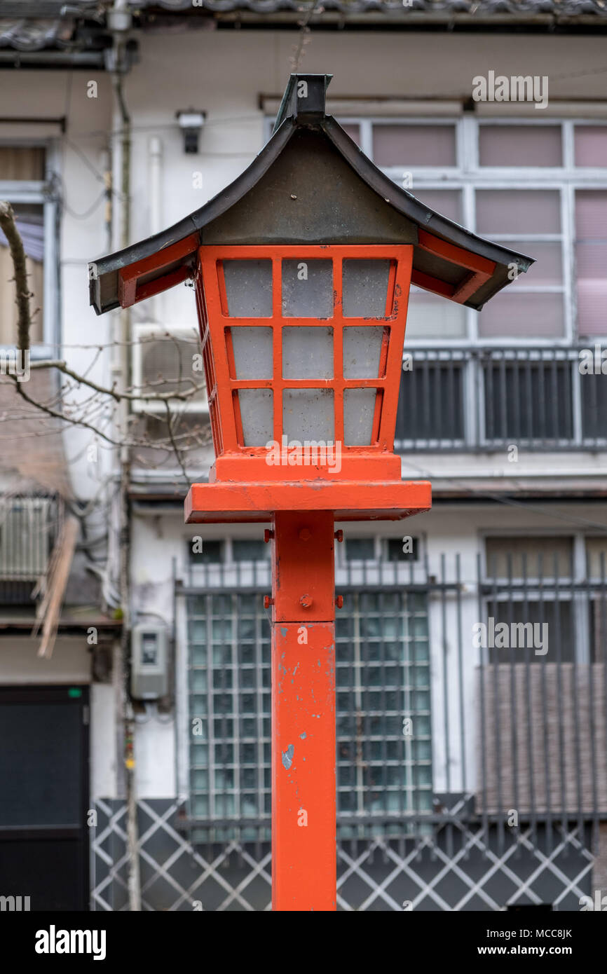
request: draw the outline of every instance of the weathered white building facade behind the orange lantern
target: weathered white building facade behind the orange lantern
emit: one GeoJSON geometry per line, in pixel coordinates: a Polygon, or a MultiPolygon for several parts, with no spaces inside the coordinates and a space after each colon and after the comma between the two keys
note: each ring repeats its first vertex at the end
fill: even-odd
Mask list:
{"type": "Polygon", "coordinates": [[[433,509],[345,524],[337,545],[338,908],[579,910],[607,885],[604,13],[324,3],[306,32],[288,4],[138,3],[130,24],[129,5],[97,19],[56,6],[44,24],[0,19],[0,199],[41,309],[31,362],[103,388],[127,369],[133,397],[125,420],[33,368],[21,389],[61,423],[3,374],[0,713],[9,739],[33,729],[0,821],[3,891],[32,909],[128,909],[131,814],[142,909],[269,909],[263,526],[184,525],[212,462],[205,397],[175,400],[170,424],[137,398],[191,376],[191,290],[96,318],[87,264],[246,169],[303,63],[333,74],[327,108],[376,166],[536,258],[481,313],[411,295],[397,447],[404,478],[432,480],[433,509]],[[194,152],[186,111],[204,113],[194,152]],[[125,422],[128,457],[112,442],[125,422]],[[142,627],[167,640],[169,684],[125,725],[142,627]],[[31,779],[59,759],[71,783],[46,782],[48,801],[31,779]],[[70,863],[64,888],[36,886],[35,841],[70,863]]]}

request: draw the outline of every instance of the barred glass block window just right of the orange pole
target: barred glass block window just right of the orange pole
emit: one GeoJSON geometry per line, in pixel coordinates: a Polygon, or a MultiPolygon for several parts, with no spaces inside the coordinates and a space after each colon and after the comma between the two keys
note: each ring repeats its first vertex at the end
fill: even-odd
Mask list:
{"type": "MultiPolygon", "coordinates": [[[[432,808],[426,599],[358,592],[336,623],[337,796],[344,815],[432,808]],[[411,719],[412,733],[403,733],[411,719]]],[[[376,827],[374,827],[376,828],[376,827]]],[[[393,827],[386,825],[390,832],[393,827]]],[[[400,826],[401,828],[401,826],[400,826]]],[[[354,826],[342,836],[356,836],[354,826]]]]}

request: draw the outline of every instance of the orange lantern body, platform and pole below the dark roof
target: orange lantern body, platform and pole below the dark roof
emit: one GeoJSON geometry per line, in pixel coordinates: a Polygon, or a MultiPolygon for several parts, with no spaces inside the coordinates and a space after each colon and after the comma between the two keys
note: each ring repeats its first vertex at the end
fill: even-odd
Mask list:
{"type": "Polygon", "coordinates": [[[430,484],[402,483],[393,452],[412,255],[410,244],[200,250],[217,459],[186,520],[272,523],[275,910],[336,909],[335,520],[431,506],[430,484]],[[266,277],[264,317],[230,314],[247,311],[235,274],[253,290],[266,277]]]}

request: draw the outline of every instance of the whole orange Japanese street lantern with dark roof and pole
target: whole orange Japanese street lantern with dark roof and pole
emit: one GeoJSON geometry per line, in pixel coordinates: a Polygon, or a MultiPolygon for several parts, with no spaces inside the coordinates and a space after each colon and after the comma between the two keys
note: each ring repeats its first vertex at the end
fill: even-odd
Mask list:
{"type": "Polygon", "coordinates": [[[215,463],[186,521],[272,524],[275,910],[336,909],[334,523],[431,506],[394,453],[410,284],[479,309],[531,264],[376,169],[329,80],[291,75],[234,183],[90,272],[97,313],[194,279],[215,463]]]}

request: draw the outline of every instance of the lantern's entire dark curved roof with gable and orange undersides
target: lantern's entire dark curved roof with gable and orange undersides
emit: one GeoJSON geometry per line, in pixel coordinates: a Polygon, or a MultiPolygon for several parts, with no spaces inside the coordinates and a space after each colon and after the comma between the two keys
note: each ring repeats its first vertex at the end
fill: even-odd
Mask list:
{"type": "Polygon", "coordinates": [[[324,114],[330,79],[291,75],[274,134],[245,172],[168,230],[89,265],[97,315],[191,277],[204,244],[413,244],[413,283],[476,310],[514,267],[528,270],[533,258],[475,236],[377,169],[324,114]]]}

